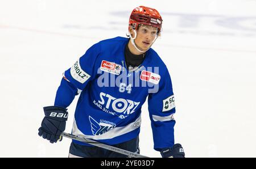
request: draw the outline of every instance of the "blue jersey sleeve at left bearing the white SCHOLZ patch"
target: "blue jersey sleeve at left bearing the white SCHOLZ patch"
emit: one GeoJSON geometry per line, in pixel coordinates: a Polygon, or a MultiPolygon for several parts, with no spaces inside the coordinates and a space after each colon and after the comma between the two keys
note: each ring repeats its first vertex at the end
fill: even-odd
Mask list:
{"type": "Polygon", "coordinates": [[[94,65],[100,53],[100,44],[94,44],[63,73],[63,79],[57,90],[55,105],[67,108],[89,81],[96,77],[97,70],[94,65]]]}

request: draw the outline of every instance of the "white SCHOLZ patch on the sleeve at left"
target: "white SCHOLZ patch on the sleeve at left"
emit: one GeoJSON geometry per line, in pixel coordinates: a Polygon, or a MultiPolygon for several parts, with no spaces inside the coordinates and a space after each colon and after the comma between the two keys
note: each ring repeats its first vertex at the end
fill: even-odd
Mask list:
{"type": "Polygon", "coordinates": [[[76,79],[76,81],[79,81],[80,83],[84,83],[90,78],[90,75],[82,70],[79,60],[77,60],[76,63],[71,67],[70,74],[74,79],[76,79]]]}

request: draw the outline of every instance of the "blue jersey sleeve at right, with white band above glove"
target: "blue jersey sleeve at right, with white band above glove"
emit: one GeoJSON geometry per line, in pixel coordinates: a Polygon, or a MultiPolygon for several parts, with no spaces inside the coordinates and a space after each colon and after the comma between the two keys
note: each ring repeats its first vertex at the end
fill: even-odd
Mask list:
{"type": "Polygon", "coordinates": [[[158,92],[148,95],[148,112],[154,137],[154,149],[157,151],[174,145],[175,100],[167,69],[161,79],[158,92]]]}

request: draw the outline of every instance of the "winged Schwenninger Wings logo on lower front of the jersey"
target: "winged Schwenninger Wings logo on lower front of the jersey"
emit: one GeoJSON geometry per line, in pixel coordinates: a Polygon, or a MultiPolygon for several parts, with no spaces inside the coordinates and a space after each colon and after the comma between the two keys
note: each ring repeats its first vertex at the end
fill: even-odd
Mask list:
{"type": "Polygon", "coordinates": [[[107,120],[100,120],[100,122],[97,122],[91,116],[89,116],[89,120],[94,136],[104,134],[117,126],[114,122],[110,122],[107,120]]]}

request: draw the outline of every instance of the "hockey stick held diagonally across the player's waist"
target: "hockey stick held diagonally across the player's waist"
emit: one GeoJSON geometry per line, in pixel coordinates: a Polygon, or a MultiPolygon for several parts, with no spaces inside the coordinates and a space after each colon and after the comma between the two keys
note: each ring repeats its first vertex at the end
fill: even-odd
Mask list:
{"type": "Polygon", "coordinates": [[[90,140],[88,138],[85,138],[82,135],[73,135],[73,134],[69,134],[69,133],[65,133],[65,132],[61,133],[60,135],[63,136],[63,137],[71,138],[73,140],[89,143],[90,145],[101,147],[103,149],[111,150],[111,151],[114,151],[114,152],[117,152],[117,153],[120,153],[120,154],[129,155],[130,157],[149,158],[149,157],[141,155],[141,154],[133,153],[131,151],[119,149],[117,147],[113,147],[113,146],[110,146],[110,145],[105,145],[104,143],[100,143],[100,142],[97,142],[97,141],[94,141],[94,140],[90,140]]]}

